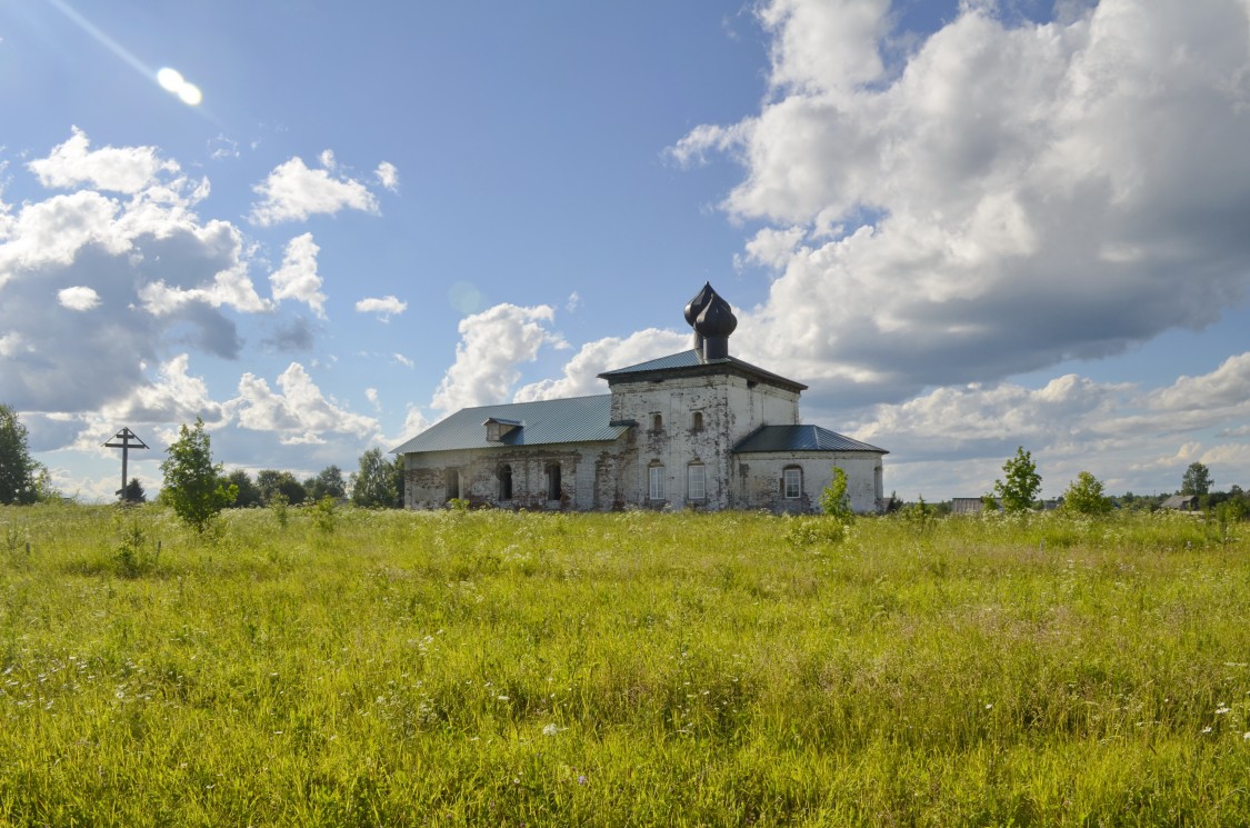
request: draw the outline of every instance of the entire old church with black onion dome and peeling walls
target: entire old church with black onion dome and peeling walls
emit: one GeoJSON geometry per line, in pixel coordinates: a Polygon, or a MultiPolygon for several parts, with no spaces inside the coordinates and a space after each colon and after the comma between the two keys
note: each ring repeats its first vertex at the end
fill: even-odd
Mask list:
{"type": "Polygon", "coordinates": [[[811,513],[836,467],[852,509],[884,508],[885,449],[800,423],[806,385],[729,355],[710,284],[685,319],[692,349],[600,374],[608,394],[466,408],[408,440],[405,505],[811,513]]]}

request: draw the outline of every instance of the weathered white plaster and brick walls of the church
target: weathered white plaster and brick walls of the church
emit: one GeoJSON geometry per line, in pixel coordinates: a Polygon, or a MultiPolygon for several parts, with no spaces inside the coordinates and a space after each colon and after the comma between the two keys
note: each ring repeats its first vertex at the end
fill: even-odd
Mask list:
{"type": "Polygon", "coordinates": [[[459,497],[472,505],[512,509],[589,512],[632,505],[819,512],[820,493],[838,465],[846,472],[852,509],[875,512],[880,507],[878,454],[731,454],[739,440],[761,425],[798,425],[798,391],[721,374],[618,381],[611,394],[612,420],[638,423],[614,442],[405,455],[405,505],[438,509],[450,497],[459,497]],[[696,424],[696,413],[701,424],[696,424]],[[546,467],[551,463],[560,467],[558,499],[549,499],[546,492],[546,467]],[[689,469],[694,463],[704,467],[705,497],[698,500],[689,497],[689,469]],[[512,470],[511,500],[500,500],[500,469],[505,464],[512,470]],[[658,500],[649,497],[652,465],[664,467],[665,497],[658,500]],[[788,465],[802,469],[802,497],[796,499],[785,498],[781,489],[788,465]]]}

